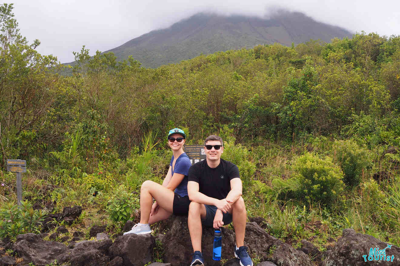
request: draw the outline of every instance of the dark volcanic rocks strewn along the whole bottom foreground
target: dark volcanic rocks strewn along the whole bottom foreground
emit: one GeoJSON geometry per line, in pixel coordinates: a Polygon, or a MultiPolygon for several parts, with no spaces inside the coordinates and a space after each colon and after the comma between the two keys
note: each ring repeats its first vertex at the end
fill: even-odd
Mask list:
{"type": "MultiPolygon", "coordinates": [[[[79,215],[79,208],[64,209],[58,218],[74,219],[79,215]],[[66,216],[67,215],[67,216],[66,216]]],[[[378,260],[370,257],[370,248],[387,247],[372,236],[355,233],[353,229],[344,229],[343,235],[334,246],[326,246],[321,252],[311,242],[302,240],[301,248],[294,248],[290,244],[270,236],[260,227],[262,219],[251,219],[253,222],[246,225],[245,245],[255,263],[255,266],[395,266],[400,265],[400,248],[391,246],[386,248],[386,256],[378,256],[378,260]],[[258,221],[259,223],[257,223],[258,221]],[[367,255],[367,256],[365,256],[367,255]],[[368,258],[369,257],[369,258],[368,258]],[[372,260],[369,260],[372,258],[372,260]],[[386,259],[389,258],[387,261],[386,259]]],[[[44,223],[46,225],[46,222],[44,223]]],[[[124,230],[130,229],[133,222],[128,221],[124,230]]],[[[70,266],[187,266],[192,258],[192,247],[187,226],[187,218],[172,217],[163,227],[168,228],[165,234],[153,236],[151,234],[127,234],[117,236],[114,242],[104,233],[106,227],[92,227],[90,235],[96,240],[82,240],[82,232],[76,231],[72,238],[59,238],[58,235],[68,231],[65,227],[58,227],[50,239],[69,242],[68,246],[57,241],[43,240],[48,236],[42,234],[20,234],[16,242],[0,241],[0,266],[10,265],[70,265],[70,266]],[[162,248],[156,243],[162,243],[162,248]],[[12,250],[12,251],[11,251],[12,250]],[[162,250],[164,263],[154,262],[154,252],[162,250]],[[153,263],[152,263],[153,262],[153,263]]],[[[232,230],[222,229],[222,261],[212,260],[213,230],[203,229],[202,251],[204,264],[207,266],[238,266],[238,260],[233,256],[235,234],[232,230]]],[[[158,244],[160,245],[160,244],[158,244]]],[[[382,253],[383,254],[383,253],[382,253]]],[[[160,254],[157,254],[160,256],[160,254]]],[[[377,254],[379,255],[379,254],[377,254]]]]}

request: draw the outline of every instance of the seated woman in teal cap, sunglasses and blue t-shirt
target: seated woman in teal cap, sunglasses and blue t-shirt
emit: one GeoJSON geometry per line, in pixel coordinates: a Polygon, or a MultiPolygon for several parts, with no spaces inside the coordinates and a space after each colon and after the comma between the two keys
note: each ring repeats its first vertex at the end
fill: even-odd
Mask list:
{"type": "Polygon", "coordinates": [[[140,223],[124,234],[151,233],[150,225],[168,219],[174,215],[188,215],[190,200],[188,197],[189,157],[183,152],[185,132],[174,128],[168,133],[168,145],[172,158],[168,173],[162,185],[146,180],[140,188],[140,223]],[[153,203],[153,198],[156,202],[153,203]]]}

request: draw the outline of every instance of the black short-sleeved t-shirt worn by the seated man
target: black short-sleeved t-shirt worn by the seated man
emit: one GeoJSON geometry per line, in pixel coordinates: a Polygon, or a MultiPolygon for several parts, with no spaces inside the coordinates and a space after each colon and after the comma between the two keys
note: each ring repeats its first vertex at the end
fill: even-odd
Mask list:
{"type": "Polygon", "coordinates": [[[206,160],[189,168],[188,181],[199,183],[199,192],[214,199],[225,199],[230,191],[230,180],[239,177],[238,167],[228,161],[220,160],[215,168],[210,168],[206,160]]]}

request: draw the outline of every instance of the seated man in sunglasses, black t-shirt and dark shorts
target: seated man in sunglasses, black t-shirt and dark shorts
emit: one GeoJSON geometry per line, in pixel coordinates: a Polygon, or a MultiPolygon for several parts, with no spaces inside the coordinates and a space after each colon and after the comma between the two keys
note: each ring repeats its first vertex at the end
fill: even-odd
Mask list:
{"type": "Polygon", "coordinates": [[[188,227],[193,246],[190,266],[202,266],[202,223],[218,229],[233,221],[236,233],[234,254],[241,266],[253,262],[244,246],[246,229],[246,206],[242,196],[242,180],[238,167],[221,159],[224,152],[222,138],[211,135],[204,141],[206,160],[192,165],[188,173],[189,205],[188,227]]]}

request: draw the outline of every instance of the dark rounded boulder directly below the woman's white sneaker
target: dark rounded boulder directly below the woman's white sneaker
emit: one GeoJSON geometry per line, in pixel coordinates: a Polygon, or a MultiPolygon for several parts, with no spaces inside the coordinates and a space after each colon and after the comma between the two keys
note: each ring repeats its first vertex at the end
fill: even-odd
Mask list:
{"type": "Polygon", "coordinates": [[[121,257],[124,266],[143,266],[153,261],[155,246],[156,240],[151,234],[126,234],[116,238],[110,247],[110,256],[121,257]]]}

